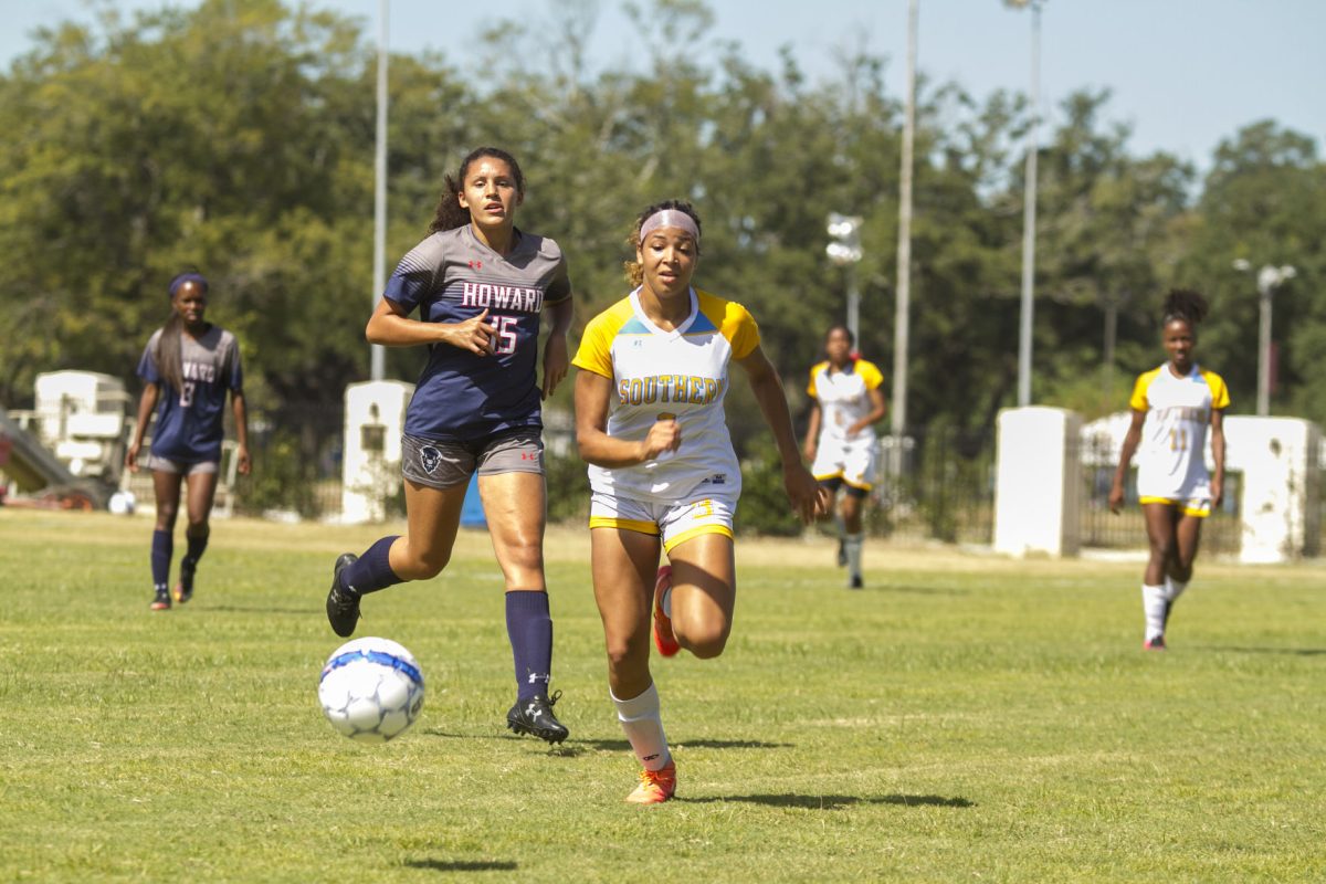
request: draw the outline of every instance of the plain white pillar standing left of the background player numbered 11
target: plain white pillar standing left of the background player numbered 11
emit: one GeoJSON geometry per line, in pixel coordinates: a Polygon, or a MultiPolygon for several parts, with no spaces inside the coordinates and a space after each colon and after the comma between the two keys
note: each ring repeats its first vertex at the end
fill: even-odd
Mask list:
{"type": "Polygon", "coordinates": [[[1082,419],[1030,406],[998,415],[994,550],[1009,555],[1077,555],[1082,419]]]}

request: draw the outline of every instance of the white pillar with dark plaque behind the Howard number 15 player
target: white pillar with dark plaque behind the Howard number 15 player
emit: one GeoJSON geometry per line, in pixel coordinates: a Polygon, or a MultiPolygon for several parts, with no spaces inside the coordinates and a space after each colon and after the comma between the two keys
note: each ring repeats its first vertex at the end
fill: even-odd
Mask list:
{"type": "Polygon", "coordinates": [[[369,380],[345,388],[341,520],[381,522],[400,488],[400,432],[414,384],[369,380]]]}

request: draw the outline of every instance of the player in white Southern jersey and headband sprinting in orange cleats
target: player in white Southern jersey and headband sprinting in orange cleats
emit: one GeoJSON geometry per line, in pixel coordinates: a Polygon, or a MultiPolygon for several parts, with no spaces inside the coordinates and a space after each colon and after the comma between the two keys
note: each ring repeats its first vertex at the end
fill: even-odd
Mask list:
{"type": "Polygon", "coordinates": [[[663,656],[723,653],[732,630],[732,517],[741,470],[724,423],[728,366],[751,382],[782,457],[793,509],[810,521],[827,492],[801,464],[788,400],[745,307],[691,288],[700,219],[688,203],[648,207],[631,236],[636,285],[585,329],[574,364],[575,432],[589,461],[594,596],[617,717],[644,767],[627,801],[676,791],[650,676],[650,614],[663,656]],[[658,567],[660,549],[671,567],[658,567]],[[652,596],[652,598],[651,598],[652,596]]]}

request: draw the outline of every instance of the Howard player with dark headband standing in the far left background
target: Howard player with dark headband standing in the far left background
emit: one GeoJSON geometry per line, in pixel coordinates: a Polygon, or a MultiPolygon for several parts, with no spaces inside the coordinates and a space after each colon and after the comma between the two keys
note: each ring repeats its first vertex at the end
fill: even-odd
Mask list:
{"type": "Polygon", "coordinates": [[[152,449],[146,465],[152,470],[156,496],[156,529],[152,531],[152,611],[168,611],[171,603],[170,562],[174,555],[175,516],[179,490],[188,488],[186,509],[188,550],[179,562],[175,600],[194,598],[198,561],[211,533],[208,516],[216,496],[221,461],[225,392],[231,394],[235,416],[235,457],[240,473],[249,472],[248,417],[244,408],[244,372],[235,335],[207,322],[207,280],[199,273],[180,273],[170,281],[171,317],[152,333],[138,362],[143,398],[138,403],[138,423],[125,455],[125,465],[138,472],[138,452],[152,411],[152,449]],[[164,391],[166,395],[162,395],[164,391]],[[159,404],[159,407],[158,407],[159,404]]]}

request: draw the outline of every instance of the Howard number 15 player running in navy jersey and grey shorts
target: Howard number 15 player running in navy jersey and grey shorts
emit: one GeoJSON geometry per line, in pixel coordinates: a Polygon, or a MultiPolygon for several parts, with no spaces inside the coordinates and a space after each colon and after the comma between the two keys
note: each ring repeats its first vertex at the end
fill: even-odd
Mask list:
{"type": "Polygon", "coordinates": [[[525,196],[516,159],[480,147],[446,190],[428,236],[406,254],[369,319],[386,346],[428,345],[406,410],[402,473],[406,533],[335,561],[328,620],[354,632],[359,602],[404,580],[436,577],[451,559],[469,477],[479,473],[493,551],[507,583],[507,632],[516,704],[507,726],[548,742],[566,738],[549,696],[553,622],[544,577],[548,518],[540,400],[566,376],[572,284],[553,240],[514,225],[525,196]],[[537,384],[540,314],[552,329],[537,384]],[[419,318],[410,318],[415,310],[419,318]]]}

